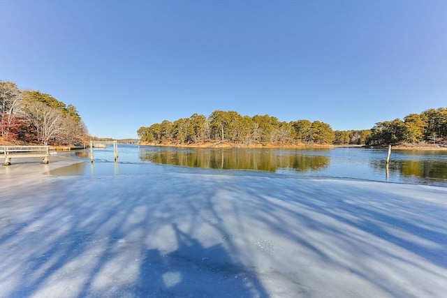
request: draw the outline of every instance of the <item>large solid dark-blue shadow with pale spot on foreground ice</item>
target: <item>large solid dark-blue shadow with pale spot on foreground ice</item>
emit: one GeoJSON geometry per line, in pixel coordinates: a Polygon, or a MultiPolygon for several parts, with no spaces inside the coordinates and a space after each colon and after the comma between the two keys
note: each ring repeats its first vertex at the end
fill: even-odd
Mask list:
{"type": "Polygon", "coordinates": [[[173,223],[177,249],[146,252],[135,294],[141,297],[268,297],[254,271],[235,264],[222,244],[204,247],[173,223]]]}

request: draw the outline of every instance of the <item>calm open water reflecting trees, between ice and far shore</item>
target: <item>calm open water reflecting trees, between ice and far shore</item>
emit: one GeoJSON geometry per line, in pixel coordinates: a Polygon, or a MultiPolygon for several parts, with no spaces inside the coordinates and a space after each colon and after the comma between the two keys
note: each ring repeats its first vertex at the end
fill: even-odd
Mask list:
{"type": "Polygon", "coordinates": [[[238,174],[291,174],[447,186],[447,151],[393,150],[386,166],[386,149],[177,149],[119,144],[75,153],[85,161],[54,170],[54,175],[143,174],[150,172],[214,171],[238,174]],[[223,172],[226,170],[227,172],[223,172]],[[230,172],[228,172],[230,171],[230,172]]]}

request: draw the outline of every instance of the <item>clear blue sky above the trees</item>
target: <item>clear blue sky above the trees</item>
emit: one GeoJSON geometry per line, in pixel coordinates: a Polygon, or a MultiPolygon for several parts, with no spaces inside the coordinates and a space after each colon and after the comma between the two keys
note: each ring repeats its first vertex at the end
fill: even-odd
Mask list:
{"type": "Polygon", "coordinates": [[[89,133],[214,110],[369,129],[447,106],[447,1],[5,1],[0,80],[89,133]]]}

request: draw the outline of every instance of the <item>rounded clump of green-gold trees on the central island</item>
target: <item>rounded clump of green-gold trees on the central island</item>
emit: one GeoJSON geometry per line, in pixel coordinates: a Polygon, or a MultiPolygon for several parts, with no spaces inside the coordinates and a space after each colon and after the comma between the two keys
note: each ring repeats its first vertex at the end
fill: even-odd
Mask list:
{"type": "MultiPolygon", "coordinates": [[[[205,117],[193,114],[173,122],[142,126],[137,131],[142,142],[196,144],[200,142],[232,142],[251,144],[332,144],[335,132],[321,121],[279,121],[268,114],[242,116],[235,111],[216,110],[205,117]]],[[[360,134],[360,133],[359,133],[360,134]]],[[[349,135],[349,140],[353,138],[349,135]]],[[[357,142],[357,140],[356,140],[357,142]]]]}

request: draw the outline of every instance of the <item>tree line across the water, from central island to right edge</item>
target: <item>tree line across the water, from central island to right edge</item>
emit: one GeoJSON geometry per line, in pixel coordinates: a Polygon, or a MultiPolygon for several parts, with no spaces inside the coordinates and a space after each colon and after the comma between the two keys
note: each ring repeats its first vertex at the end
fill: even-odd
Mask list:
{"type": "Polygon", "coordinates": [[[140,141],[152,144],[200,144],[231,142],[252,144],[366,144],[402,142],[446,142],[447,109],[440,107],[421,114],[409,114],[404,121],[377,122],[369,130],[333,131],[329,124],[305,119],[279,121],[268,114],[242,116],[235,111],[215,110],[210,116],[193,114],[175,121],[142,126],[140,141]]]}

